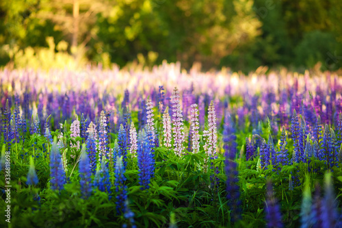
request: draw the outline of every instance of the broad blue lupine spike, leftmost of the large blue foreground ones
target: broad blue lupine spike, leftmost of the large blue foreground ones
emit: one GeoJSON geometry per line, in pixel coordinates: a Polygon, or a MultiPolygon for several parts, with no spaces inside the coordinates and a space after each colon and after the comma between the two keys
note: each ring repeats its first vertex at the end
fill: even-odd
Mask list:
{"type": "Polygon", "coordinates": [[[51,147],[50,175],[50,188],[52,190],[63,190],[66,183],[66,175],[63,169],[60,150],[55,142],[53,142],[51,147]]]}

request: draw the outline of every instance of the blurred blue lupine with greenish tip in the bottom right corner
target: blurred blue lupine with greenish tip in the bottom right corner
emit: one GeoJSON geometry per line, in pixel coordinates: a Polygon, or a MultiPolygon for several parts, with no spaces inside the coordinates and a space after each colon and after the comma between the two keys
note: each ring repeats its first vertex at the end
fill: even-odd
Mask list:
{"type": "Polygon", "coordinates": [[[337,227],[339,212],[337,210],[337,202],[335,201],[331,173],[327,173],[325,176],[324,190],[321,210],[322,227],[337,227]]]}

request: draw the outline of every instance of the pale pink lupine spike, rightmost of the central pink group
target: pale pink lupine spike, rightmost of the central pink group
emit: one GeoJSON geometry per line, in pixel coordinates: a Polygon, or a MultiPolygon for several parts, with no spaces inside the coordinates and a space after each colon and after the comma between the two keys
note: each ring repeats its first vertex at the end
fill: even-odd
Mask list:
{"type": "Polygon", "coordinates": [[[209,158],[215,156],[218,134],[216,132],[216,115],[213,101],[211,101],[208,109],[208,130],[203,132],[203,136],[207,137],[207,142],[205,142],[204,145],[207,157],[209,158]]]}

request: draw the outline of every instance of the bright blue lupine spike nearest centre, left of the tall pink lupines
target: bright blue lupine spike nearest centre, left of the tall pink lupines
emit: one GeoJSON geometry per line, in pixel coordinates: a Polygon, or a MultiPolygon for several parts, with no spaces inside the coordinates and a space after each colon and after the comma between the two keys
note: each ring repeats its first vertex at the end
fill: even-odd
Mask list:
{"type": "Polygon", "coordinates": [[[152,151],[150,147],[150,141],[147,134],[142,131],[144,138],[140,136],[137,142],[137,166],[139,169],[139,184],[143,186],[142,189],[148,189],[150,179],[154,176],[154,162],[152,157],[152,151]]]}

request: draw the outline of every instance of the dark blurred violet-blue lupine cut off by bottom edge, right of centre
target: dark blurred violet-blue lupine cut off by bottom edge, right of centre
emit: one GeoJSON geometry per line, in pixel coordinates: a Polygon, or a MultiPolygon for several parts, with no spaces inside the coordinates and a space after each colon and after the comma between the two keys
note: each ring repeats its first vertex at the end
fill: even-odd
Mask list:
{"type": "Polygon", "coordinates": [[[274,197],[273,186],[269,181],[267,183],[267,194],[266,194],[266,208],[265,208],[265,219],[267,227],[269,228],[280,228],[283,227],[281,222],[280,207],[274,197]]]}

